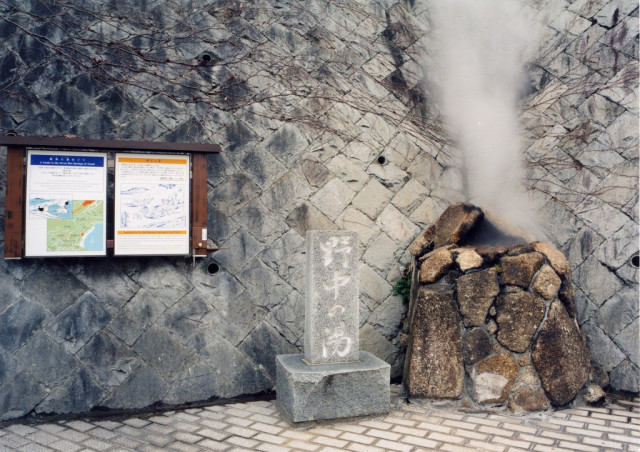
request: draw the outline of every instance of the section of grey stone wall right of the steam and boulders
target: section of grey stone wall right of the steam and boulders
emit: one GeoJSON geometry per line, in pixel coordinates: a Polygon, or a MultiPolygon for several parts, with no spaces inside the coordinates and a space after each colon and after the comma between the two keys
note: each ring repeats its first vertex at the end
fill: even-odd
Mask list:
{"type": "Polygon", "coordinates": [[[564,2],[532,71],[528,177],[573,269],[578,319],[611,388],[638,370],[638,5],[564,2]]]}

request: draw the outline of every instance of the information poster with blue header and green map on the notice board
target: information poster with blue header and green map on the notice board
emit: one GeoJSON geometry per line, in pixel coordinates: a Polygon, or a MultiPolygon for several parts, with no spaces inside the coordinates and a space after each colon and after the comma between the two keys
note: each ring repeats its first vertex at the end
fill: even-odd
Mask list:
{"type": "Polygon", "coordinates": [[[25,256],[106,255],[107,154],[27,152],[25,256]]]}

